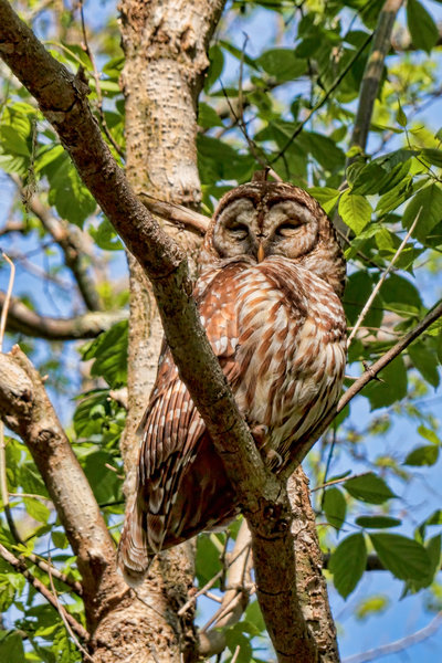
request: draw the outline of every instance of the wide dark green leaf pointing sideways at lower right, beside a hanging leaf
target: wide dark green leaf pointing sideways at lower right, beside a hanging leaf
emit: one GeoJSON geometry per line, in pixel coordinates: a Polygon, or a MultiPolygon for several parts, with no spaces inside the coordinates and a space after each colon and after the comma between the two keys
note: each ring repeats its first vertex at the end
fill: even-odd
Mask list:
{"type": "Polygon", "coordinates": [[[399,534],[370,534],[380,561],[400,580],[420,580],[431,569],[429,554],[418,541],[399,534]]]}

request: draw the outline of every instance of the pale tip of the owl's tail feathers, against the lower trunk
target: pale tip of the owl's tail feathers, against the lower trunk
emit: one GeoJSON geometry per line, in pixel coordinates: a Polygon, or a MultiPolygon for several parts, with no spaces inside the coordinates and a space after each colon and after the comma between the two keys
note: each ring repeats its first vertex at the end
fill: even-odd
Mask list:
{"type": "Polygon", "coordinates": [[[129,587],[137,588],[143,583],[154,557],[143,527],[143,513],[134,504],[126,512],[117,554],[118,570],[129,587]]]}

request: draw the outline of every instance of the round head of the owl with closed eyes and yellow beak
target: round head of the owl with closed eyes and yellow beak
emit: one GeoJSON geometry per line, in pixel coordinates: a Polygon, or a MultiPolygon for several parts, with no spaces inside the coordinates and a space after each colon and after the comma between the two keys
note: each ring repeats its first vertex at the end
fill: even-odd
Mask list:
{"type": "Polygon", "coordinates": [[[225,193],[206,233],[200,272],[274,255],[314,272],[343,295],[343,252],[332,221],[312,196],[286,182],[269,181],[248,182],[225,193]]]}

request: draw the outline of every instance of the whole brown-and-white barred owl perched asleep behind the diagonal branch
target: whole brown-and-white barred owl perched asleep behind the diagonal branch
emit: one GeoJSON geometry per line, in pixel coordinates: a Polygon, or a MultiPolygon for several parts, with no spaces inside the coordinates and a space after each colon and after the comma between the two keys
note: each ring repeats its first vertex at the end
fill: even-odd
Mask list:
{"type": "MultiPolygon", "coordinates": [[[[304,190],[253,181],[221,199],[199,267],[202,325],[257,448],[278,472],[341,389],[345,262],[334,229],[304,190]]],[[[158,551],[239,513],[166,345],[143,432],[118,554],[130,585],[158,551]]]]}

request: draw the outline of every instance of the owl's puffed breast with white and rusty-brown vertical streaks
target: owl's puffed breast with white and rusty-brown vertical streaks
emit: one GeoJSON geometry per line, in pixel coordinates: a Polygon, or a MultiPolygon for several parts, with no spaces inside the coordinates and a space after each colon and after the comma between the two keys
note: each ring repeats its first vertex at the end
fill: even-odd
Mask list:
{"type": "Polygon", "coordinates": [[[238,335],[227,333],[213,349],[225,359],[234,355],[229,377],[240,411],[259,445],[276,452],[271,466],[285,464],[296,440],[339,397],[346,355],[343,307],[327,283],[283,257],[228,270],[235,271],[229,275],[230,292],[219,301],[214,319],[204,316],[203,322],[210,338],[212,322],[220,330],[231,317],[223,312],[235,302],[238,335]]]}

